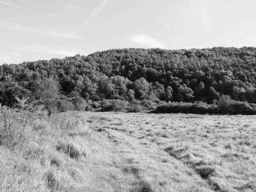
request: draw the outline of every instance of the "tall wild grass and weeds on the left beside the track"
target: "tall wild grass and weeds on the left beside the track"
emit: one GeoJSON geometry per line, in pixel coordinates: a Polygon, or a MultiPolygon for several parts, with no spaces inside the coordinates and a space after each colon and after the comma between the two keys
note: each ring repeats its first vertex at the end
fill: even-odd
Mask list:
{"type": "Polygon", "coordinates": [[[38,113],[0,106],[0,191],[83,191],[86,181],[71,170],[93,130],[77,112],[38,113]]]}

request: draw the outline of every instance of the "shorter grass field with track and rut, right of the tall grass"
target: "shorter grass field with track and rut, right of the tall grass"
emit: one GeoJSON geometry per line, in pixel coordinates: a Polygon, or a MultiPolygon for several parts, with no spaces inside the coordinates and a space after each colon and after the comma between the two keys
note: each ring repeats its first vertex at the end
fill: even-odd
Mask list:
{"type": "Polygon", "coordinates": [[[84,115],[108,162],[98,167],[107,191],[256,191],[255,116],[84,115]]]}

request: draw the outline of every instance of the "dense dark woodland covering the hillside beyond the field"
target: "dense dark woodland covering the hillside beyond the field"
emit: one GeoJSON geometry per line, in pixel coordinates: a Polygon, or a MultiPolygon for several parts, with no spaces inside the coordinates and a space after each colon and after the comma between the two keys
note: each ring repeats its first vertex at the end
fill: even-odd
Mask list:
{"type": "Polygon", "coordinates": [[[0,103],[12,107],[18,99],[30,98],[35,82],[45,78],[59,81],[67,98],[83,99],[91,106],[104,101],[105,108],[110,102],[148,109],[166,102],[212,104],[221,95],[256,103],[255,67],[255,47],[111,49],[88,56],[3,64],[0,103]]]}

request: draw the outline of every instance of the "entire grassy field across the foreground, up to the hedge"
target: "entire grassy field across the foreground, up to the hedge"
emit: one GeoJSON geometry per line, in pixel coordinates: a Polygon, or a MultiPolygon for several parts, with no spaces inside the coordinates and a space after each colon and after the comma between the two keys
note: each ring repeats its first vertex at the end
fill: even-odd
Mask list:
{"type": "Polygon", "coordinates": [[[66,112],[1,122],[1,192],[256,191],[255,116],[66,112]]]}

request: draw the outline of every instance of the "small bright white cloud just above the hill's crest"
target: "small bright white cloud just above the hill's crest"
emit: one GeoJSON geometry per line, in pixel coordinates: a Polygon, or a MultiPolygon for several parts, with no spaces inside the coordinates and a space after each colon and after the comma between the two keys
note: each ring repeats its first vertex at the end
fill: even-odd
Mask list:
{"type": "Polygon", "coordinates": [[[158,48],[162,48],[162,49],[166,48],[165,44],[163,44],[160,41],[157,41],[154,38],[151,38],[148,35],[135,35],[135,36],[131,37],[130,40],[133,41],[134,43],[142,44],[146,47],[151,47],[151,48],[158,47],[158,48]]]}

